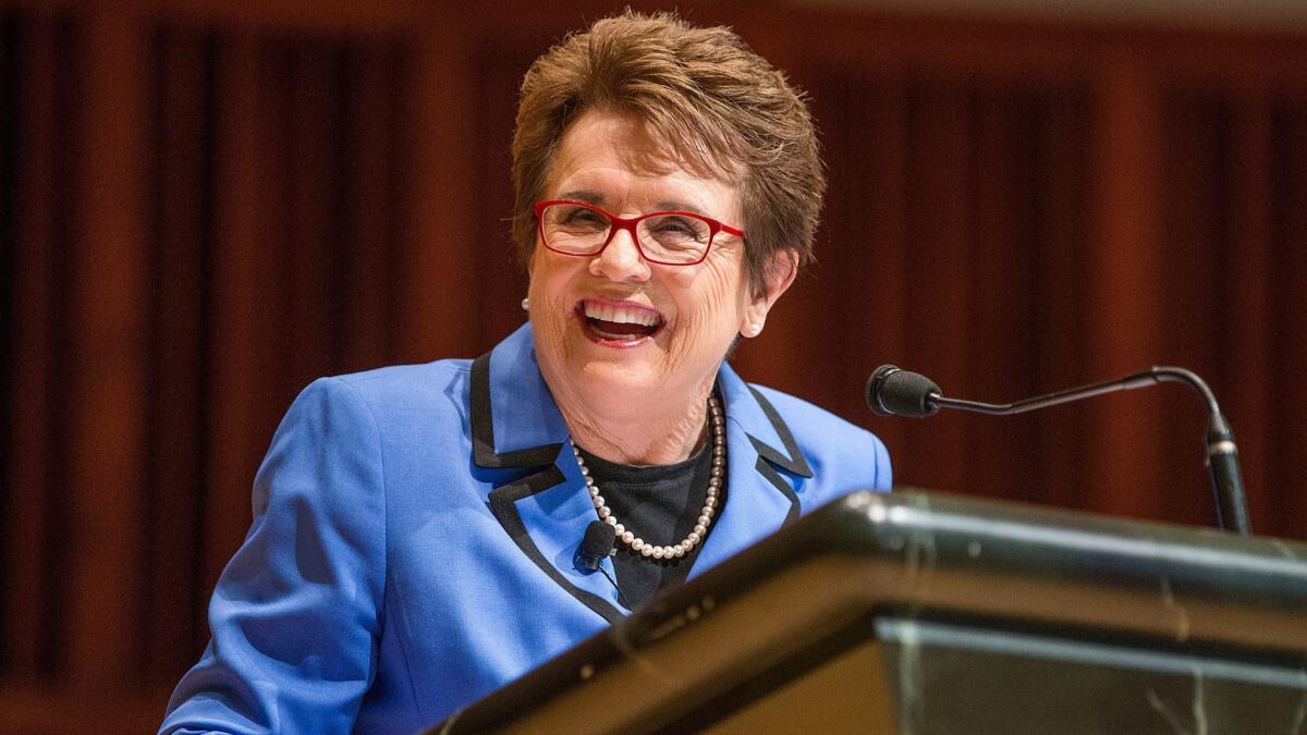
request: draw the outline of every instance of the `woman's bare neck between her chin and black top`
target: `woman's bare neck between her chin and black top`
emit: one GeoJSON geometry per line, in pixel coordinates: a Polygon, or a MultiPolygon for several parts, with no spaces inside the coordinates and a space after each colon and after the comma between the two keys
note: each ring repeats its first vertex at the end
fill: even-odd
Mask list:
{"type": "Polygon", "coordinates": [[[690,400],[655,416],[604,416],[562,402],[558,409],[572,442],[596,456],[622,464],[673,464],[694,454],[707,437],[711,390],[710,383],[690,400]]]}

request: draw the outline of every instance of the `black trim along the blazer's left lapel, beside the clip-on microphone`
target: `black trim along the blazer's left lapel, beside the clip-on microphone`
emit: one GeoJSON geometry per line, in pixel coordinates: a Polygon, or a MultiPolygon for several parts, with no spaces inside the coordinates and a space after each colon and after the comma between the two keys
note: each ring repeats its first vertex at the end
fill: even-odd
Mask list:
{"type": "Polygon", "coordinates": [[[472,362],[471,383],[472,415],[468,421],[472,424],[472,460],[478,467],[489,470],[537,470],[490,490],[490,511],[494,513],[495,519],[508,532],[508,538],[518,544],[521,553],[527,555],[527,558],[567,594],[593,609],[609,624],[626,617],[613,603],[572,585],[553,564],[549,564],[545,555],[540,553],[540,547],[531,538],[531,532],[527,531],[527,524],[521,522],[521,514],[518,513],[518,501],[565,481],[562,470],[554,463],[563,445],[540,445],[499,454],[494,446],[494,411],[490,404],[490,353],[482,354],[472,362]]]}

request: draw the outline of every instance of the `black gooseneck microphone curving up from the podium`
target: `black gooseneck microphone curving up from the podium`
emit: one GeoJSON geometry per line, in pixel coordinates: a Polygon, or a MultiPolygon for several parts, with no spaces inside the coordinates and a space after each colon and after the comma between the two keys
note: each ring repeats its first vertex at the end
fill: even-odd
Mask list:
{"type": "Polygon", "coordinates": [[[1234,432],[1230,430],[1225,416],[1221,415],[1221,407],[1217,405],[1217,398],[1212,388],[1202,382],[1202,378],[1184,368],[1149,368],[1142,373],[1115,381],[1068,388],[1014,403],[978,403],[945,398],[940,386],[925,375],[899,370],[893,365],[881,365],[867,381],[867,405],[881,416],[911,416],[915,419],[933,416],[941,408],[1008,416],[1157,383],[1184,383],[1196,390],[1208,404],[1208,468],[1212,471],[1212,489],[1217,501],[1217,522],[1227,531],[1248,534],[1248,505],[1243,494],[1239,447],[1234,443],[1234,432]]]}

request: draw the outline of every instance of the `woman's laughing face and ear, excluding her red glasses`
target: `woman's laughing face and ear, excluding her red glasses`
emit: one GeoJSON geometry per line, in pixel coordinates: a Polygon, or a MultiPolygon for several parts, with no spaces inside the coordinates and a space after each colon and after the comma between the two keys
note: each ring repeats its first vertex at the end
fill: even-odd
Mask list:
{"type": "MultiPolygon", "coordinates": [[[[638,118],[597,110],[563,135],[545,197],[591,201],[621,217],[693,211],[744,228],[735,180],[682,166],[638,118]]],[[[629,231],[588,258],[553,252],[537,234],[536,356],[565,412],[638,416],[702,400],[736,333],[761,327],[789,282],[755,297],[744,247],[718,233],[702,263],[660,265],[640,258],[629,231]]]]}

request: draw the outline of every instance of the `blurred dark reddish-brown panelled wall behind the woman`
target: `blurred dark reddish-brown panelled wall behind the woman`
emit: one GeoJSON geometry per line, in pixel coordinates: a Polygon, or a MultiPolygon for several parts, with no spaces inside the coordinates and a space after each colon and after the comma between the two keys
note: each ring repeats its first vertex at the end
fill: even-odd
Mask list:
{"type": "MultiPolygon", "coordinates": [[[[625,5],[0,3],[0,731],[152,730],[298,390],[523,320],[516,88],[625,5]]],[[[885,362],[995,402],[1187,366],[1255,530],[1307,538],[1307,7],[676,5],[809,92],[830,170],[745,377],[878,433],[899,484],[1205,526],[1183,386],[863,403],[885,362]]]]}

